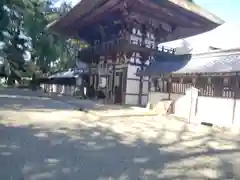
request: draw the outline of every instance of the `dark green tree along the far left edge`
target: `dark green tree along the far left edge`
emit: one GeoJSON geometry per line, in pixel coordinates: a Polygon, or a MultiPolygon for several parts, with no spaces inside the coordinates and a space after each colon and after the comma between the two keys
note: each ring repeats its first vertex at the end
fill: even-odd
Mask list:
{"type": "MultiPolygon", "coordinates": [[[[24,71],[24,53],[27,49],[23,32],[24,1],[4,0],[0,4],[2,26],[0,37],[3,46],[0,51],[4,58],[4,70],[9,79],[20,79],[20,72],[24,71]]],[[[10,80],[9,82],[12,82],[10,80]]]]}

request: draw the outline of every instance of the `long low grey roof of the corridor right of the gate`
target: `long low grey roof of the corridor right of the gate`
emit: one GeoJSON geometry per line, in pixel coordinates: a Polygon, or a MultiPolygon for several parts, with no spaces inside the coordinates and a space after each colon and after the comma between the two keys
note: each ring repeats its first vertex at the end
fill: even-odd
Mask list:
{"type": "Polygon", "coordinates": [[[231,53],[209,53],[202,55],[179,56],[179,60],[156,59],[139,76],[161,74],[196,74],[240,72],[240,51],[231,53]]]}

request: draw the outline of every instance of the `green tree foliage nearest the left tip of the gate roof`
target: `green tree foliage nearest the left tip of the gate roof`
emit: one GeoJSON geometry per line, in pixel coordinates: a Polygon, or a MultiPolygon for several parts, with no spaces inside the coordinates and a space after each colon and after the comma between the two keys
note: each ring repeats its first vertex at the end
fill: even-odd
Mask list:
{"type": "Polygon", "coordinates": [[[59,8],[52,8],[51,1],[37,1],[32,8],[34,13],[27,14],[25,18],[25,29],[31,38],[32,61],[43,73],[49,72],[53,65],[57,70],[72,66],[79,47],[46,29],[48,24],[65,15],[71,6],[63,3],[59,8]]]}

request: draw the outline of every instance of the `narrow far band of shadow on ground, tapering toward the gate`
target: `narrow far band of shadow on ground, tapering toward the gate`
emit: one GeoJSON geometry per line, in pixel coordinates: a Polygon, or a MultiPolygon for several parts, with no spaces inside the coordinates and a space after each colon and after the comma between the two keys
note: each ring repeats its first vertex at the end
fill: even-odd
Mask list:
{"type": "Polygon", "coordinates": [[[77,99],[72,96],[48,94],[42,91],[31,91],[17,88],[5,88],[0,90],[1,107],[4,110],[34,110],[46,112],[52,110],[84,110],[109,113],[113,110],[132,110],[131,106],[107,105],[98,101],[77,99]],[[55,101],[53,101],[55,100],[55,101]]]}

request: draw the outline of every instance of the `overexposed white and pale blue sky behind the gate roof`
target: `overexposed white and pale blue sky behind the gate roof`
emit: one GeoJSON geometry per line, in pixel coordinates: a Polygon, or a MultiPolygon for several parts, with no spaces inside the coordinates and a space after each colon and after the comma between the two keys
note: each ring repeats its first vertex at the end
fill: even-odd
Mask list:
{"type": "MultiPolygon", "coordinates": [[[[62,0],[64,1],[64,0],[62,0]]],[[[80,0],[71,1],[73,5],[80,0]]],[[[204,34],[185,39],[194,49],[194,53],[201,53],[209,46],[230,49],[240,47],[240,0],[194,0],[196,4],[223,19],[225,23],[204,34]]],[[[182,46],[182,41],[168,43],[168,46],[182,46]]]]}

